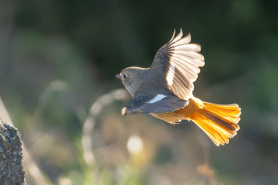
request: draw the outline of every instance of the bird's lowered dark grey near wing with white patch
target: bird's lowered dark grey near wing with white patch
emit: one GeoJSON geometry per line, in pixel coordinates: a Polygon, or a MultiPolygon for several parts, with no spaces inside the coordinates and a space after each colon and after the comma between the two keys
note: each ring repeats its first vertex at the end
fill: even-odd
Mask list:
{"type": "Polygon", "coordinates": [[[122,109],[122,114],[173,112],[185,107],[186,104],[186,100],[172,95],[134,95],[133,98],[128,101],[127,107],[122,109]]]}

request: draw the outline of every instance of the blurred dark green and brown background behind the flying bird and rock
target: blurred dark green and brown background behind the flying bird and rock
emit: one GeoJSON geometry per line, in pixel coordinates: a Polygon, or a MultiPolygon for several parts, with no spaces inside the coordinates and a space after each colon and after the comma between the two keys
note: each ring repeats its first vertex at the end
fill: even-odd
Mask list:
{"type": "MultiPolygon", "coordinates": [[[[277,184],[277,7],[259,0],[1,0],[0,96],[42,182],[277,184]],[[194,96],[242,108],[228,145],[215,146],[188,121],[120,115],[129,97],[112,91],[123,88],[115,75],[150,67],[180,28],[205,58],[194,96]]],[[[27,165],[27,184],[38,184],[27,165]]]]}

